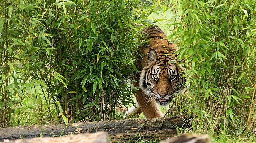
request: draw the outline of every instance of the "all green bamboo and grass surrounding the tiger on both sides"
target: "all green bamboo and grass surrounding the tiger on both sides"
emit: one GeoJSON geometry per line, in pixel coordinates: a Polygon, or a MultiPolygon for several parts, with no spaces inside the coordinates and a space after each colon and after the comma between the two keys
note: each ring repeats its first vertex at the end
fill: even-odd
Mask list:
{"type": "Polygon", "coordinates": [[[250,141],[256,131],[254,0],[5,0],[0,8],[0,127],[119,118],[118,100],[132,103],[143,42],[134,23],[157,22],[190,79],[166,115],[194,114],[192,132],[219,142],[250,141]]]}

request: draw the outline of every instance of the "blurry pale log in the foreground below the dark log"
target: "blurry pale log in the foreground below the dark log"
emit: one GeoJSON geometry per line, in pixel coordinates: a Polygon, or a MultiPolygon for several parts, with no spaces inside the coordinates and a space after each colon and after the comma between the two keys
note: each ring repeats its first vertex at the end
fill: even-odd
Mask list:
{"type": "Polygon", "coordinates": [[[4,140],[0,143],[110,143],[110,139],[106,132],[97,132],[92,134],[76,134],[63,137],[45,137],[19,140],[4,140]]]}

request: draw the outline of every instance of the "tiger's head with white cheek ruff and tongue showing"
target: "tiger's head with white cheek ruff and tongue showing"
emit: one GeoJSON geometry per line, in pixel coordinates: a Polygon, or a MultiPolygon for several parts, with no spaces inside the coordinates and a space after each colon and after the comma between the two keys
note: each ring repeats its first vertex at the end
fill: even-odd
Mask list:
{"type": "Polygon", "coordinates": [[[154,98],[162,106],[168,105],[175,94],[187,88],[184,86],[186,78],[181,77],[182,69],[171,61],[168,53],[150,49],[148,64],[140,73],[140,88],[148,99],[154,98]]]}

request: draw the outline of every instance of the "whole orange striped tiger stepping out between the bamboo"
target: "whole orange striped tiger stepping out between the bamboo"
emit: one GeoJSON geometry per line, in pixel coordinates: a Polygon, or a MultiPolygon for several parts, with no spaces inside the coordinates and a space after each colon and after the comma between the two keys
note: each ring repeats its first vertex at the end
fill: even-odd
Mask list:
{"type": "Polygon", "coordinates": [[[133,83],[141,90],[135,94],[136,107],[129,108],[127,115],[143,112],[146,118],[163,117],[157,104],[169,105],[175,94],[180,94],[187,88],[184,86],[187,80],[181,76],[184,68],[173,60],[177,45],[164,39],[165,33],[156,25],[143,31],[147,44],[140,49],[143,57],[138,57],[137,68],[141,72],[136,75],[135,80],[139,82],[133,83]]]}

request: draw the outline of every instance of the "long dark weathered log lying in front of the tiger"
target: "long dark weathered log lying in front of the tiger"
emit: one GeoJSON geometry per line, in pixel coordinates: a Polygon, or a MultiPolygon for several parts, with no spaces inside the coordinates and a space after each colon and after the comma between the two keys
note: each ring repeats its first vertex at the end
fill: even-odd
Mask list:
{"type": "Polygon", "coordinates": [[[140,139],[166,139],[177,135],[176,127],[187,128],[187,115],[154,119],[126,119],[101,122],[77,122],[69,124],[49,124],[18,126],[0,129],[0,141],[34,137],[54,137],[67,134],[94,133],[106,131],[112,142],[137,141],[140,139]]]}

